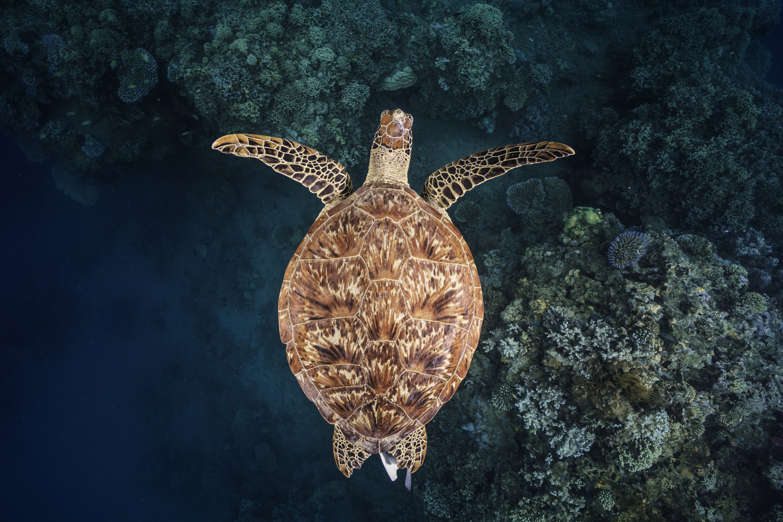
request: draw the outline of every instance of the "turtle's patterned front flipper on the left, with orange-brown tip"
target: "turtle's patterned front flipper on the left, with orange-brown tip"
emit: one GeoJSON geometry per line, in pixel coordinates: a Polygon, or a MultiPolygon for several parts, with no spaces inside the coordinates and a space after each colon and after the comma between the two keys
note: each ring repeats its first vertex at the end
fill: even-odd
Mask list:
{"type": "Polygon", "coordinates": [[[213,149],[239,157],[255,157],[282,175],[293,178],[334,207],[353,192],[351,176],[339,161],[290,139],[254,134],[229,134],[212,143],[213,149]]]}

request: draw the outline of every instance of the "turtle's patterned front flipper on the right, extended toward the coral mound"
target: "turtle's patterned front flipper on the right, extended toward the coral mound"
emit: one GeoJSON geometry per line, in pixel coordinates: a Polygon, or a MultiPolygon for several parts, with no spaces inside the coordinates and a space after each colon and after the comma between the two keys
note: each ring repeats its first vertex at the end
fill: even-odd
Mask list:
{"type": "Polygon", "coordinates": [[[474,186],[506,174],[512,168],[571,156],[574,149],[557,142],[518,143],[482,150],[433,172],[421,196],[436,209],[451,205],[474,186]]]}

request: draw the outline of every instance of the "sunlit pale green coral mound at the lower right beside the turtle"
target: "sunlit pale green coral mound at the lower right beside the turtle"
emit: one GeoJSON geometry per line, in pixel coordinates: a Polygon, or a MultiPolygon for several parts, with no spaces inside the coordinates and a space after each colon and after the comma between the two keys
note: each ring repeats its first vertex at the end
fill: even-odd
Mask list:
{"type": "Polygon", "coordinates": [[[621,272],[604,257],[622,231],[613,214],[577,207],[561,227],[518,268],[479,254],[485,285],[490,269],[514,272],[485,286],[486,308],[503,310],[485,314],[453,419],[441,413],[466,450],[428,464],[481,455],[494,478],[460,489],[452,519],[742,520],[767,480],[752,455],[783,415],[778,311],[701,236],[648,227],[647,254],[621,272]]]}

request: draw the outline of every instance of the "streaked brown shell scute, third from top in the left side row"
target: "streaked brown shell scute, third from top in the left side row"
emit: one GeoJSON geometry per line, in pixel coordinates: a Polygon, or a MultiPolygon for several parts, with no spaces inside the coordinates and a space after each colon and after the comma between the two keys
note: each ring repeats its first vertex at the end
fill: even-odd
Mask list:
{"type": "Polygon", "coordinates": [[[364,326],[355,318],[323,319],[294,326],[294,347],[305,369],[359,365],[366,344],[364,326]]]}

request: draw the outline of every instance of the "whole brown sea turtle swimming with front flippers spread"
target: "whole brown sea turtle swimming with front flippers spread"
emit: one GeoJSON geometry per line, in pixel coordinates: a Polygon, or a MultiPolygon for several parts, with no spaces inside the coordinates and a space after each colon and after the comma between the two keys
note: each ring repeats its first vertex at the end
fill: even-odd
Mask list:
{"type": "Polygon", "coordinates": [[[291,258],[280,289],[280,340],[307,398],[334,424],[346,477],[380,453],[391,480],[416,471],[428,423],[460,385],[482,327],[471,250],[446,213],[475,185],[574,151],[533,142],[471,154],[408,185],[413,117],[384,110],[364,185],[289,139],[231,134],[213,149],[256,157],[317,193],[326,206],[291,258]]]}

